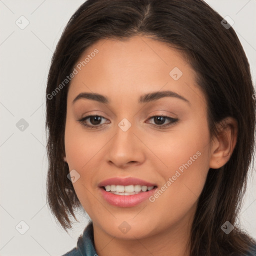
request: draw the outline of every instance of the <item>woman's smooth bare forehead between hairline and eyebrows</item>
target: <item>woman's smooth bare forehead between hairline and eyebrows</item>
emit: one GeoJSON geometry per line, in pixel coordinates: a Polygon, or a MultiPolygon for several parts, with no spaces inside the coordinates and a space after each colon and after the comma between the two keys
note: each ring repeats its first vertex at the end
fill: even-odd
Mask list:
{"type": "Polygon", "coordinates": [[[76,69],[69,88],[72,97],[87,91],[125,99],[134,94],[171,90],[186,98],[203,98],[195,84],[196,73],[182,53],[145,36],[101,39],[80,56],[76,69]]]}

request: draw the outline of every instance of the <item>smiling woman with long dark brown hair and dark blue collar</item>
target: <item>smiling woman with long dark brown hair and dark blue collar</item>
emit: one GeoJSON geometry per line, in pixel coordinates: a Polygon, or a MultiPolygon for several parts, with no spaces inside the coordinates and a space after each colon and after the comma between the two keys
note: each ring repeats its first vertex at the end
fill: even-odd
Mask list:
{"type": "Polygon", "coordinates": [[[237,227],[254,89],[227,20],[201,0],[87,0],[46,89],[48,205],[65,255],[256,255],[237,227]],[[70,213],[70,214],[69,214],[70,213]]]}

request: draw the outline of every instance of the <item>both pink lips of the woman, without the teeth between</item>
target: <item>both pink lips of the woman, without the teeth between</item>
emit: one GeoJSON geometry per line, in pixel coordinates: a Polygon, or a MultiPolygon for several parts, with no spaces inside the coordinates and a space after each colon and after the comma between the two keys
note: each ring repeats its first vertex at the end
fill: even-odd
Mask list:
{"type": "Polygon", "coordinates": [[[101,192],[102,197],[111,205],[118,206],[118,207],[132,207],[135,206],[142,201],[146,200],[150,195],[154,194],[157,185],[147,182],[145,180],[135,178],[135,177],[127,177],[127,178],[120,178],[120,177],[112,177],[101,181],[99,184],[99,190],[101,192]],[[103,186],[106,185],[144,185],[144,186],[155,186],[150,191],[139,192],[137,194],[131,195],[120,195],[120,194],[113,194],[111,192],[107,192],[104,190],[103,186]]]}

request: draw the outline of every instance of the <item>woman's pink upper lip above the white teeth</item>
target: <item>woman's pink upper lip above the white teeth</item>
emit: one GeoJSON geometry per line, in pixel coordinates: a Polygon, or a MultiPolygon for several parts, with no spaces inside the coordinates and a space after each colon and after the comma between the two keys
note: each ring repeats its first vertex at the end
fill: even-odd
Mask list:
{"type": "Polygon", "coordinates": [[[112,177],[105,179],[101,182],[99,182],[98,186],[106,186],[106,185],[144,185],[144,186],[156,186],[156,184],[147,182],[145,180],[135,178],[135,177],[126,177],[126,178],[121,178],[121,177],[112,177]]]}

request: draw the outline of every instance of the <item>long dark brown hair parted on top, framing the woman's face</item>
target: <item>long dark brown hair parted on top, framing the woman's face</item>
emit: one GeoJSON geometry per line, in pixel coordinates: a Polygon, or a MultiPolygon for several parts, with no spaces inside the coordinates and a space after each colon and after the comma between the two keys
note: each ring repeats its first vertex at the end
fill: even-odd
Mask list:
{"type": "Polygon", "coordinates": [[[218,170],[208,170],[192,224],[190,255],[239,255],[255,243],[237,227],[229,234],[220,229],[227,220],[236,224],[255,142],[248,60],[233,28],[224,27],[222,19],[202,0],[87,0],[71,16],[54,51],[46,88],[47,203],[65,230],[72,227],[70,216],[75,218],[74,209],[81,204],[63,161],[69,85],[63,81],[81,54],[99,39],[145,35],[187,56],[207,100],[211,137],[223,118],[231,116],[238,123],[230,159],[218,170]]]}

